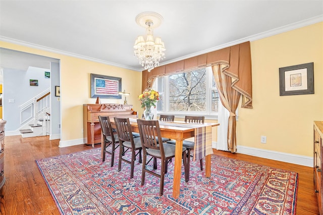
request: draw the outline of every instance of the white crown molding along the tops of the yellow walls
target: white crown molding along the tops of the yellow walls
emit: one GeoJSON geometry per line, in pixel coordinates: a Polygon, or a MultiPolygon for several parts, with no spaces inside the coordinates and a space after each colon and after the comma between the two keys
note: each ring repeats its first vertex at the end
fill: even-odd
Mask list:
{"type": "MultiPolygon", "coordinates": [[[[265,37],[274,36],[276,34],[284,33],[284,32],[287,32],[287,31],[291,31],[291,30],[294,30],[294,29],[297,29],[297,28],[305,27],[305,26],[312,25],[312,24],[315,24],[315,23],[318,23],[318,22],[322,22],[322,21],[323,21],[323,15],[319,15],[319,16],[312,17],[312,18],[309,18],[309,19],[306,19],[306,20],[302,20],[302,21],[299,21],[299,22],[292,23],[290,25],[285,25],[285,26],[275,28],[275,29],[272,29],[272,30],[269,30],[269,31],[264,31],[262,33],[258,33],[258,34],[251,35],[251,36],[248,36],[248,37],[245,37],[245,38],[241,38],[241,39],[238,39],[238,40],[235,40],[235,41],[232,41],[232,42],[224,43],[222,45],[218,45],[218,46],[215,46],[215,47],[212,47],[212,48],[208,48],[208,49],[205,49],[205,50],[202,50],[202,51],[198,51],[198,52],[192,53],[190,55],[186,55],[186,56],[183,56],[183,57],[180,57],[180,58],[177,58],[177,59],[173,59],[171,61],[166,61],[164,63],[161,63],[159,66],[174,63],[174,62],[181,61],[181,60],[184,60],[184,59],[188,59],[188,58],[191,58],[191,57],[195,57],[195,56],[198,56],[198,55],[203,55],[204,53],[219,50],[219,49],[226,48],[226,47],[236,45],[236,44],[240,44],[240,43],[243,43],[243,42],[246,42],[246,41],[255,41],[255,40],[258,40],[258,39],[265,38],[265,37]]],[[[58,53],[60,55],[79,58],[79,59],[88,60],[88,61],[101,63],[101,64],[105,64],[105,65],[115,66],[115,67],[119,67],[119,68],[123,68],[123,69],[129,69],[129,70],[134,70],[134,71],[138,71],[138,72],[141,72],[141,71],[144,70],[143,68],[142,69],[137,69],[137,68],[134,68],[134,67],[129,67],[129,66],[121,65],[121,64],[116,64],[116,63],[109,62],[109,61],[103,61],[103,60],[99,60],[99,59],[95,59],[95,58],[90,58],[90,57],[87,57],[87,56],[78,55],[76,53],[72,53],[72,52],[68,52],[68,51],[63,51],[63,50],[50,48],[50,47],[46,47],[46,46],[42,46],[42,45],[38,45],[38,44],[34,44],[34,43],[29,43],[29,42],[25,42],[25,41],[21,41],[21,40],[17,40],[17,39],[12,39],[12,38],[9,38],[9,37],[0,36],[0,40],[10,42],[10,43],[14,43],[14,44],[18,44],[18,45],[24,45],[24,46],[31,47],[31,48],[37,48],[37,49],[40,49],[40,50],[45,50],[45,51],[49,51],[49,52],[53,52],[53,53],[58,53]]]]}

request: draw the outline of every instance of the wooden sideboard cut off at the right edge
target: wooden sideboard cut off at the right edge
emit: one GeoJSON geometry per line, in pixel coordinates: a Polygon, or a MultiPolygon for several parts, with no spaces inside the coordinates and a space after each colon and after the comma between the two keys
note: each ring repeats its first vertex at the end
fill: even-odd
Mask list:
{"type": "Polygon", "coordinates": [[[323,187],[322,187],[322,144],[323,122],[314,121],[314,185],[318,201],[319,214],[323,214],[323,187]]]}

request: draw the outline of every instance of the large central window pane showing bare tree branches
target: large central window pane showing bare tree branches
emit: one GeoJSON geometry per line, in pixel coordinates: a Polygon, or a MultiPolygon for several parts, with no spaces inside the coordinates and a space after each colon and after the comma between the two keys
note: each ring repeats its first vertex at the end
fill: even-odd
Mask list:
{"type": "Polygon", "coordinates": [[[206,111],[205,68],[169,76],[169,111],[206,111]]]}

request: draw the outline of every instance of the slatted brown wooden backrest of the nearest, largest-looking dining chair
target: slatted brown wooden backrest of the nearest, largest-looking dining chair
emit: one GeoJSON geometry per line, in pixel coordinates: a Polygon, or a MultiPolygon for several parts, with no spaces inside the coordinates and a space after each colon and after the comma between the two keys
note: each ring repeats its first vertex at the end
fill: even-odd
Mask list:
{"type": "Polygon", "coordinates": [[[144,153],[146,148],[160,150],[161,157],[165,159],[163,144],[158,144],[155,137],[161,140],[160,128],[158,120],[140,120],[137,119],[138,129],[141,139],[141,145],[144,153]]]}

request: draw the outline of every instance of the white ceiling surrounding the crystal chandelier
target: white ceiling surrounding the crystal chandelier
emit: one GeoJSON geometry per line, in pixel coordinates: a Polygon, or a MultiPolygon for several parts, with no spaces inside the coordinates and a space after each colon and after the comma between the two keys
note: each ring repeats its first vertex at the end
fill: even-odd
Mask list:
{"type": "Polygon", "coordinates": [[[148,11],[164,17],[154,29],[166,46],[161,65],[323,21],[322,0],[0,0],[0,39],[141,71],[133,45],[145,29],[135,18],[148,11]]]}

